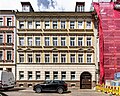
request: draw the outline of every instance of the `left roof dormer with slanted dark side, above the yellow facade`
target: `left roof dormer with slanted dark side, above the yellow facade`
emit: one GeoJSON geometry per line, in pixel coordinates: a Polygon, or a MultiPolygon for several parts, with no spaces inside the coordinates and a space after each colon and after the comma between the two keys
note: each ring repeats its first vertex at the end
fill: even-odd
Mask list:
{"type": "Polygon", "coordinates": [[[23,12],[34,12],[34,9],[30,2],[21,2],[23,12]]]}

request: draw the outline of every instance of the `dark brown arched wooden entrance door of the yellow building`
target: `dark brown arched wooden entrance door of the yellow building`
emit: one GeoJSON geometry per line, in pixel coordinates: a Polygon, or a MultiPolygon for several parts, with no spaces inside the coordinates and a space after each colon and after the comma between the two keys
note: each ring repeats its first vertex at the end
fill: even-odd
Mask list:
{"type": "Polygon", "coordinates": [[[91,74],[83,72],[80,76],[80,89],[91,89],[91,74]]]}

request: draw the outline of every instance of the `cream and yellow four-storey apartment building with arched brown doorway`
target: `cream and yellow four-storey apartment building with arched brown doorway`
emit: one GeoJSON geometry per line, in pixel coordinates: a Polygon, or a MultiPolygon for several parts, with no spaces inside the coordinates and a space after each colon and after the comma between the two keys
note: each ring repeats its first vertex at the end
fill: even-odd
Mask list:
{"type": "Polygon", "coordinates": [[[59,79],[92,88],[97,62],[91,12],[34,12],[29,2],[21,4],[24,11],[16,13],[17,86],[59,79]]]}

